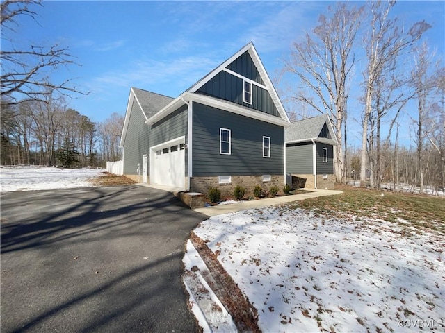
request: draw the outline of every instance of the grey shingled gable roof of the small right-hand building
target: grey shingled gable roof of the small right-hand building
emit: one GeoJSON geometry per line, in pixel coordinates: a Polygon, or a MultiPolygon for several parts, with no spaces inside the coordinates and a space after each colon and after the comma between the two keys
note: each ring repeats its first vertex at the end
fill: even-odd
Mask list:
{"type": "Polygon", "coordinates": [[[291,126],[284,129],[284,141],[286,143],[305,142],[311,140],[334,145],[338,144],[337,137],[334,134],[331,121],[327,114],[322,114],[321,116],[302,119],[299,121],[293,121],[291,126]],[[332,139],[318,137],[325,123],[332,139]]]}

